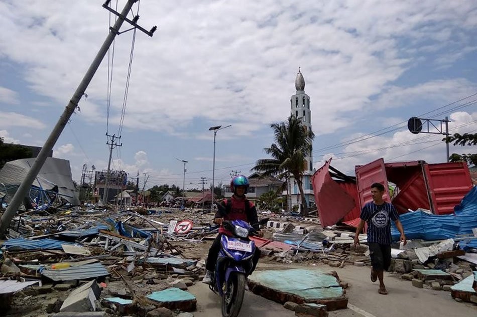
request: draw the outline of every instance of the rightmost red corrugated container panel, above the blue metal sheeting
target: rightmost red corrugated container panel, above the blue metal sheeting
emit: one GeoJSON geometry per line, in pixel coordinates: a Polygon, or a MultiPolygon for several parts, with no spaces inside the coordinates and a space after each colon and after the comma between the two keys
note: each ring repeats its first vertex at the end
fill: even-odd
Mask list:
{"type": "Polygon", "coordinates": [[[427,164],[425,171],[434,213],[452,214],[454,207],[473,187],[467,165],[463,162],[427,164]]]}

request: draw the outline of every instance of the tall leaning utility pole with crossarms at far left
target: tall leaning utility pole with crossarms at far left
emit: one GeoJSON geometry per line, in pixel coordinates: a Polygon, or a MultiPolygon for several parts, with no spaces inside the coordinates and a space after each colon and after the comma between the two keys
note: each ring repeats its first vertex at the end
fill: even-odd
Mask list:
{"type": "MultiPolygon", "coordinates": [[[[40,172],[41,168],[43,167],[43,164],[46,161],[46,158],[48,157],[48,153],[53,149],[53,146],[55,145],[56,141],[60,137],[61,132],[63,131],[64,127],[66,126],[66,123],[68,123],[68,120],[70,119],[71,115],[73,114],[74,110],[78,106],[78,102],[83,96],[86,88],[88,87],[89,83],[91,82],[91,79],[94,76],[94,73],[96,73],[96,70],[98,69],[99,65],[101,64],[101,61],[103,60],[104,56],[106,55],[109,46],[111,45],[112,41],[116,37],[116,35],[121,34],[119,32],[121,26],[123,25],[123,22],[126,21],[129,24],[131,24],[134,28],[137,28],[143,32],[145,32],[149,36],[153,36],[153,33],[156,31],[157,27],[153,27],[150,31],[147,31],[140,27],[139,25],[136,24],[136,22],[139,19],[139,16],[134,17],[133,21],[129,20],[127,18],[128,13],[130,12],[131,8],[133,7],[133,4],[137,2],[137,0],[128,0],[126,2],[126,5],[124,6],[124,9],[121,13],[118,13],[111,8],[109,8],[109,2],[110,0],[107,0],[102,7],[109,12],[115,14],[117,16],[117,20],[114,23],[114,26],[109,28],[109,34],[106,37],[106,40],[104,40],[103,45],[99,49],[98,53],[96,54],[96,57],[94,58],[93,62],[91,63],[91,66],[89,66],[88,70],[86,71],[86,74],[84,75],[83,79],[81,80],[78,88],[76,88],[76,91],[74,92],[73,96],[71,97],[71,100],[68,102],[68,105],[66,106],[65,110],[61,114],[58,122],[56,123],[55,127],[51,131],[50,135],[48,136],[48,139],[46,140],[45,144],[43,145],[42,149],[40,150],[40,153],[38,153],[38,156],[35,158],[35,162],[33,163],[32,167],[28,171],[27,175],[25,176],[25,179],[23,180],[22,184],[20,187],[17,189],[17,192],[15,193],[15,196],[12,198],[12,201],[10,202],[9,206],[7,207],[7,210],[4,212],[2,215],[2,220],[0,221],[0,236],[3,236],[5,232],[7,231],[8,227],[10,226],[10,222],[12,219],[15,217],[17,214],[18,208],[20,207],[20,204],[22,203],[23,199],[27,195],[27,192],[29,191],[30,187],[33,184],[33,181],[37,177],[38,173],[40,172]]],[[[129,31],[129,30],[128,30],[129,31]]]]}

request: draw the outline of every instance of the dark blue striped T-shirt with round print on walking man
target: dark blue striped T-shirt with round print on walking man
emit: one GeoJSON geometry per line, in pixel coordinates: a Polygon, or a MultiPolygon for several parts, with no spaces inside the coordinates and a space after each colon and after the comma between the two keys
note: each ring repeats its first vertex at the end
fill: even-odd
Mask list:
{"type": "Polygon", "coordinates": [[[360,218],[368,222],[368,242],[391,244],[391,220],[399,219],[398,212],[392,204],[368,203],[363,207],[360,218]]]}

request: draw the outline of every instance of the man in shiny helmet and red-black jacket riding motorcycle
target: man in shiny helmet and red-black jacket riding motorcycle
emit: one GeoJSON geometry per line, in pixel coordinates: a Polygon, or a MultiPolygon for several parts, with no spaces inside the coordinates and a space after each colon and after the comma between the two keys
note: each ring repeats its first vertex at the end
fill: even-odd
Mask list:
{"type": "MultiPolygon", "coordinates": [[[[247,177],[243,175],[237,175],[230,181],[230,191],[233,193],[232,197],[229,199],[224,199],[217,204],[217,212],[214,216],[214,223],[217,225],[222,225],[223,220],[232,221],[232,220],[244,220],[247,221],[254,227],[256,235],[261,236],[257,208],[253,202],[249,201],[245,194],[249,189],[250,183],[247,177]]],[[[220,238],[222,235],[232,236],[232,234],[220,226],[218,235],[215,238],[212,246],[210,246],[209,254],[207,256],[205,264],[205,277],[202,282],[210,284],[212,282],[212,275],[215,269],[215,263],[217,262],[218,252],[220,251],[220,238]]],[[[255,254],[252,258],[253,267],[249,274],[251,274],[257,267],[257,263],[260,258],[259,248],[255,249],[255,254]]]]}

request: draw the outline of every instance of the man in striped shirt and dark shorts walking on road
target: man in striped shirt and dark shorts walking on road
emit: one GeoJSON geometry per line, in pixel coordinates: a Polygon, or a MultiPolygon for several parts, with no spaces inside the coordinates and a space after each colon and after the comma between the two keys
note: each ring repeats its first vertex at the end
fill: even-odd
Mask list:
{"type": "Polygon", "coordinates": [[[393,220],[401,233],[401,241],[406,245],[406,235],[399,221],[396,208],[383,200],[384,186],[379,183],[371,185],[371,196],[373,201],[366,204],[361,211],[361,222],[356,229],[354,236],[354,246],[360,244],[359,234],[362,232],[365,222],[368,222],[368,245],[371,257],[371,281],[379,279],[380,294],[386,295],[388,291],[383,281],[383,273],[388,270],[391,264],[391,220],[393,220]]]}

